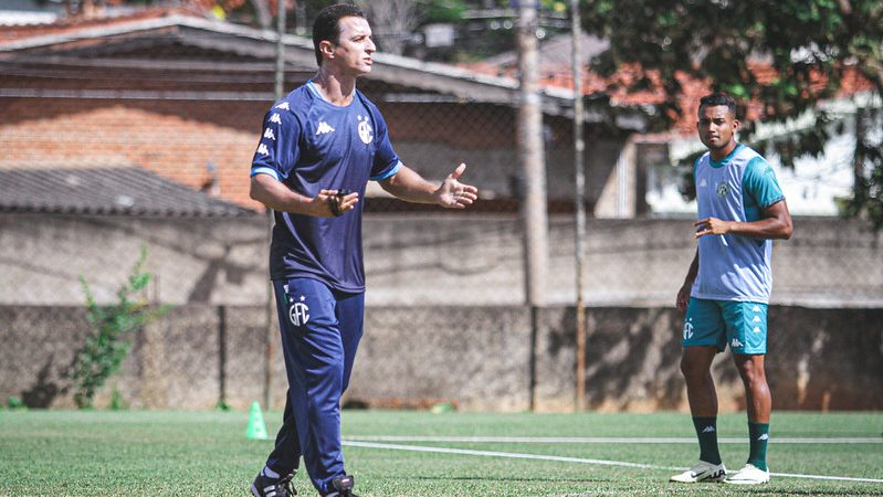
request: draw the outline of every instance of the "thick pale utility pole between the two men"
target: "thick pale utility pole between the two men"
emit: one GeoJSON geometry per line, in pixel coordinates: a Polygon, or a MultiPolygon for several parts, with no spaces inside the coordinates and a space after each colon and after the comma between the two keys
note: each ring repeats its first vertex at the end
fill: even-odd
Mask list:
{"type": "Polygon", "coordinates": [[[530,410],[535,406],[536,341],[539,308],[546,304],[548,267],[548,220],[546,213],[546,163],[543,144],[543,106],[539,96],[539,51],[537,50],[537,3],[518,4],[518,159],[524,171],[522,202],[525,252],[525,296],[530,307],[530,410]]]}

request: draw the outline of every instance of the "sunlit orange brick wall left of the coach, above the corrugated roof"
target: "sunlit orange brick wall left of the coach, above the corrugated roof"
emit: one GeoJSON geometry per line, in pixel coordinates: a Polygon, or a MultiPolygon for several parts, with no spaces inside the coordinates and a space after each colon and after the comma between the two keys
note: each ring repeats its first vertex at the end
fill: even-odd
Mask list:
{"type": "Polygon", "coordinates": [[[0,99],[0,168],[140,166],[249,208],[248,178],[267,104],[0,99]]]}

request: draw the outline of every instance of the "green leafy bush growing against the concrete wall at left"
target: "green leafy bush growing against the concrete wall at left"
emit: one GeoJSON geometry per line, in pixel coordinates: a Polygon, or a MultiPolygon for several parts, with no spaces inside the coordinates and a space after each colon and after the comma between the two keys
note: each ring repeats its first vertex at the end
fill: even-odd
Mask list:
{"type": "Polygon", "coordinates": [[[140,257],[126,284],[117,290],[117,303],[113,305],[99,305],[86,279],[80,277],[86,294],[86,318],[90,324],[85,342],[74,353],[71,372],[74,403],[80,409],[92,408],[95,393],[107,378],[119,370],[132,350],[128,336],[169,310],[169,306],[150,307],[146,298],[138,298],[138,294],[150,282],[150,273],[144,271],[146,261],[147,247],[143,246],[140,257]]]}

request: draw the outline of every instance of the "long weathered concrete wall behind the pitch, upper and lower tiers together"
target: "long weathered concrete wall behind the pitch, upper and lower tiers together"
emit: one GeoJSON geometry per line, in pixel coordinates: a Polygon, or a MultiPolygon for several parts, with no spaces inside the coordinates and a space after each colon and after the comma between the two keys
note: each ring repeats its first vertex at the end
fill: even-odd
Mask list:
{"type": "MultiPolygon", "coordinates": [[[[589,222],[587,395],[592,409],[684,409],[677,372],[681,325],[671,306],[695,250],[691,224],[589,222]]],[[[795,237],[774,250],[774,303],[779,305],[770,313],[768,368],[776,406],[881,409],[881,235],[860,222],[797,219],[795,224],[795,237]]],[[[517,219],[367,218],[369,310],[350,399],[377,405],[451,400],[464,409],[522,410],[533,394],[538,409],[569,409],[572,232],[571,220],[553,218],[550,307],[543,309],[543,327],[532,337],[529,310],[522,305],[517,219]]],[[[77,276],[111,302],[147,243],[148,269],[155,274],[147,297],[177,307],[138,335],[124,372],[102,392],[99,404],[117,389],[136,408],[208,409],[223,387],[228,402],[244,409],[263,392],[265,236],[263,216],[3,214],[0,400],[15,395],[32,405],[70,405],[63,377],[87,330],[77,276]],[[228,308],[224,355],[221,305],[228,308]]],[[[275,327],[271,334],[277,340],[275,327]]],[[[726,357],[719,360],[722,405],[737,409],[743,401],[735,369],[726,357]]],[[[271,363],[274,403],[281,404],[283,367],[277,357],[271,363]]]]}

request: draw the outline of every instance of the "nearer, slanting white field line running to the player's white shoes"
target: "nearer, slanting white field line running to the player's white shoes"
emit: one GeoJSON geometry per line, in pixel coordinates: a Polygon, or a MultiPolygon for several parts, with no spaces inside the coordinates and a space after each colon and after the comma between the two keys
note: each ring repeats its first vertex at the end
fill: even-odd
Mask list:
{"type": "MultiPolygon", "coordinates": [[[[353,438],[353,437],[347,437],[353,438]]],[[[620,466],[620,467],[633,467],[640,469],[665,469],[665,470],[684,470],[684,467],[672,467],[672,466],[658,466],[654,464],[640,464],[640,463],[629,463],[623,461],[608,461],[608,459],[588,459],[582,457],[564,457],[564,456],[553,456],[553,455],[542,455],[542,454],[523,454],[517,452],[497,452],[497,451],[472,451],[467,448],[449,448],[449,447],[427,447],[421,445],[399,445],[399,444],[390,444],[390,443],[377,443],[377,442],[357,442],[353,440],[344,440],[344,445],[350,447],[364,447],[364,448],[381,448],[388,451],[409,451],[409,452],[429,452],[435,454],[460,454],[460,455],[470,455],[470,456],[484,456],[484,457],[508,457],[508,458],[516,458],[516,459],[538,459],[538,461],[557,461],[561,463],[578,463],[578,464],[593,464],[600,466],[620,466]]],[[[839,482],[865,482],[865,483],[881,483],[883,484],[882,478],[856,478],[850,476],[827,476],[827,475],[800,475],[800,474],[792,474],[792,473],[770,473],[772,476],[784,476],[788,478],[806,478],[806,479],[829,479],[829,480],[839,480],[839,482]]]]}

